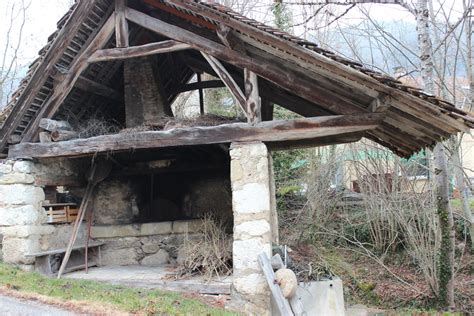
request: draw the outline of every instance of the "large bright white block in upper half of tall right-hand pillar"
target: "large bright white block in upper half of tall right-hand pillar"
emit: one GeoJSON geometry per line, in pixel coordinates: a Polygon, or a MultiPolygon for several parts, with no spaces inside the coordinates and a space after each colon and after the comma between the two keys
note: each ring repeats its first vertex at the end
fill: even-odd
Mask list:
{"type": "Polygon", "coordinates": [[[234,213],[258,213],[270,211],[270,184],[249,183],[234,191],[234,213]]]}

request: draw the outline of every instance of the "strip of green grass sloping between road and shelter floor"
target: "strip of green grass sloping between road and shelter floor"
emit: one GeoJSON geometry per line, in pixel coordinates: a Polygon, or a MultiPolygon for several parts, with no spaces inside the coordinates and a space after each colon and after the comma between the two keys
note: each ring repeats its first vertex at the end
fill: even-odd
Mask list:
{"type": "Polygon", "coordinates": [[[107,306],[133,314],[235,315],[177,293],[114,286],[94,281],[46,278],[0,263],[0,285],[9,291],[34,293],[81,305],[107,306]]]}

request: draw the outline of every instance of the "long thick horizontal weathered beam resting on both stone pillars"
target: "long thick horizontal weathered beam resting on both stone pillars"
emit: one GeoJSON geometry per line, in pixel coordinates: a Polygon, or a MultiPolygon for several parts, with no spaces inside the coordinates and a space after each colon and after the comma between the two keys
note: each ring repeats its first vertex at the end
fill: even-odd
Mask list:
{"type": "Polygon", "coordinates": [[[131,134],[103,135],[50,144],[21,143],[9,150],[10,158],[52,158],[90,156],[97,153],[134,151],[147,148],[221,144],[231,142],[262,141],[291,147],[292,142],[305,139],[317,145],[318,138],[374,130],[384,114],[336,115],[287,121],[261,122],[254,126],[247,123],[223,124],[213,127],[177,128],[169,131],[138,132],[131,134]]]}

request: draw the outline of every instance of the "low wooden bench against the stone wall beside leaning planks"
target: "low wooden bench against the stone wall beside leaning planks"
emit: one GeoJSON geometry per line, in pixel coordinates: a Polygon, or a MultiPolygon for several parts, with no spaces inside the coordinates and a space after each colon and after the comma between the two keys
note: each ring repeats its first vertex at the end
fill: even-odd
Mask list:
{"type": "MultiPolygon", "coordinates": [[[[89,267],[100,265],[100,247],[102,245],[104,245],[104,243],[89,243],[89,267]]],[[[85,245],[77,245],[72,248],[71,257],[69,258],[65,272],[85,269],[85,248],[85,245]]],[[[66,248],[52,249],[27,254],[26,257],[35,258],[36,271],[48,276],[53,276],[58,273],[65,253],[66,248]]]]}

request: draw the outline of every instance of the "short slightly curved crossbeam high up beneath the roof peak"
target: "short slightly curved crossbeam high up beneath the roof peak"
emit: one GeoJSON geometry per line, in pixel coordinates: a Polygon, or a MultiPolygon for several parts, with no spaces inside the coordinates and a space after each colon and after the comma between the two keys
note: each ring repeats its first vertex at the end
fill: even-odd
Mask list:
{"type": "Polygon", "coordinates": [[[188,44],[173,40],[166,40],[157,43],[132,46],[127,48],[100,49],[89,57],[90,63],[124,60],[128,58],[144,57],[156,54],[164,54],[189,49],[188,44]]]}

